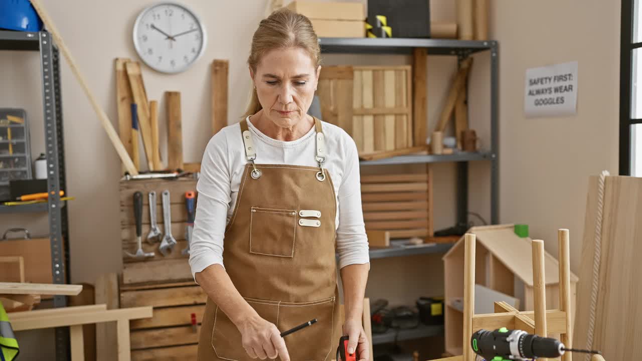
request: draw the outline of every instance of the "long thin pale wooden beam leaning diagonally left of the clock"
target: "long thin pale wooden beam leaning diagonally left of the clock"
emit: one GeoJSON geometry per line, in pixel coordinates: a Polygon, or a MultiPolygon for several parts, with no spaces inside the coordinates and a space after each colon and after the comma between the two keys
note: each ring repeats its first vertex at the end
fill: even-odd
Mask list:
{"type": "Polygon", "coordinates": [[[98,119],[100,119],[100,123],[103,126],[103,129],[105,129],[105,132],[107,132],[109,140],[112,142],[114,148],[116,148],[116,152],[121,158],[121,161],[123,161],[123,164],[125,164],[127,172],[129,172],[131,175],[137,175],[138,170],[135,168],[134,162],[132,162],[132,158],[130,158],[129,154],[127,154],[127,150],[125,149],[125,146],[123,146],[123,143],[120,141],[116,130],[114,130],[112,122],[109,120],[107,113],[105,113],[105,110],[103,110],[103,108],[98,103],[98,100],[96,100],[96,96],[94,96],[94,93],[91,91],[91,89],[89,89],[89,85],[87,85],[85,77],[80,73],[80,69],[78,69],[78,66],[76,65],[76,60],[74,60],[74,58],[71,56],[71,52],[69,51],[69,49],[67,49],[65,42],[62,40],[62,36],[58,32],[55,24],[53,24],[53,21],[49,17],[49,13],[46,12],[41,0],[31,0],[31,4],[33,5],[33,8],[35,8],[36,12],[38,12],[38,15],[40,15],[40,19],[42,19],[42,22],[44,22],[49,32],[51,32],[51,36],[53,36],[53,39],[56,40],[56,45],[58,45],[58,48],[60,49],[60,51],[62,51],[62,55],[67,58],[67,62],[69,63],[69,67],[71,68],[72,73],[74,73],[76,79],[78,80],[78,83],[82,87],[83,91],[85,91],[87,98],[89,98],[92,107],[94,107],[96,115],[98,115],[98,119]]]}

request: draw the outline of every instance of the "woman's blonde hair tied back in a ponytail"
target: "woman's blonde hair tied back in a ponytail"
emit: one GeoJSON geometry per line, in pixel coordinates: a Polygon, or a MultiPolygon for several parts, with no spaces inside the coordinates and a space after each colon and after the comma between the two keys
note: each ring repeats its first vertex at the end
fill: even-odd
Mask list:
{"type": "MultiPolygon", "coordinates": [[[[306,51],[316,64],[315,71],[321,64],[321,49],[317,33],[312,28],[308,17],[292,12],[288,8],[281,8],[272,12],[267,19],[263,19],[259,23],[259,28],[252,37],[252,48],[247,64],[256,74],[256,68],[263,55],[274,49],[288,48],[300,48],[306,51]]],[[[253,87],[243,119],[256,114],[261,109],[259,97],[253,87]]]]}

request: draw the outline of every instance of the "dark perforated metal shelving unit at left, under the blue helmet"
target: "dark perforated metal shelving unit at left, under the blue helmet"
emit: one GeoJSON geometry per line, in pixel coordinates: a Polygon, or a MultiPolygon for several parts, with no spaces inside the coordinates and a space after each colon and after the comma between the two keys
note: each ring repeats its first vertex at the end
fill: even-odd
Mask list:
{"type": "MultiPolygon", "coordinates": [[[[67,191],[62,128],[60,56],[48,31],[23,32],[0,30],[0,50],[39,51],[42,78],[45,154],[48,164],[47,203],[3,206],[0,213],[47,212],[51,240],[53,283],[69,283],[69,229],[66,202],[60,202],[60,189],[67,191]]],[[[67,305],[65,296],[55,296],[54,307],[67,305]]],[[[56,360],[69,359],[69,328],[56,328],[56,360]]]]}

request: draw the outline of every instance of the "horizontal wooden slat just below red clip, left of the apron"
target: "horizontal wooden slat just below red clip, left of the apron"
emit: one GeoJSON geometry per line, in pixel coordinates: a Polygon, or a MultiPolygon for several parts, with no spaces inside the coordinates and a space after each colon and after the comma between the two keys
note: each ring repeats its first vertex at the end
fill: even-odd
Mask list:
{"type": "MultiPolygon", "coordinates": [[[[200,331],[200,326],[197,326],[197,328],[198,331],[200,331]]],[[[192,326],[132,331],[132,349],[193,344],[194,342],[198,342],[198,331],[193,331],[192,326]]]]}

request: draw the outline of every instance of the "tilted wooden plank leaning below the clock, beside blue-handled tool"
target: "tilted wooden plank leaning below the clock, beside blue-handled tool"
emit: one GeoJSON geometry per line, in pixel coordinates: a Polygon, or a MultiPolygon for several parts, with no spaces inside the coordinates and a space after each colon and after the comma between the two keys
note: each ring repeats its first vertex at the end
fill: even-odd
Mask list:
{"type": "Polygon", "coordinates": [[[143,82],[143,73],[141,73],[141,66],[138,62],[126,62],[125,69],[129,78],[129,84],[132,88],[132,96],[138,109],[138,128],[143,136],[143,146],[145,150],[145,157],[147,158],[147,166],[150,170],[154,169],[153,164],[153,150],[152,150],[152,129],[150,127],[150,109],[149,100],[147,99],[147,92],[143,82]]]}

